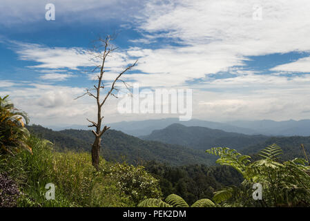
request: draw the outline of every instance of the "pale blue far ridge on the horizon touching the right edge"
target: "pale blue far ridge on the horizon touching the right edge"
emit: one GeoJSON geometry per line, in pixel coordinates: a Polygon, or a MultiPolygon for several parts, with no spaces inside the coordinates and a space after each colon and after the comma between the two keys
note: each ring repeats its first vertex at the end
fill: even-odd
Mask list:
{"type": "Polygon", "coordinates": [[[264,135],[282,135],[282,136],[310,136],[310,119],[302,119],[299,121],[290,119],[282,122],[273,120],[256,120],[256,121],[233,121],[226,122],[231,126],[250,128],[257,133],[264,135]]]}

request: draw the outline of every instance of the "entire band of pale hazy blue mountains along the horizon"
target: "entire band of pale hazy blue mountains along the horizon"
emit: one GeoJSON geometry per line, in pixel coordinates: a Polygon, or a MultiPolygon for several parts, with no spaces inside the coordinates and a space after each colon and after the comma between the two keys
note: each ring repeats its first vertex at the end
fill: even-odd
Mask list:
{"type": "MultiPolygon", "coordinates": [[[[233,122],[210,122],[200,119],[191,119],[187,122],[180,122],[178,118],[166,119],[148,119],[133,122],[117,122],[108,124],[117,131],[122,131],[128,135],[135,137],[150,135],[154,130],[166,128],[171,124],[182,124],[184,126],[203,126],[211,129],[219,129],[226,132],[243,133],[245,135],[280,135],[280,136],[309,136],[310,135],[310,119],[302,119],[299,121],[288,120],[275,122],[273,120],[255,120],[244,121],[238,120],[233,122]]],[[[55,131],[64,129],[82,129],[88,130],[88,126],[82,125],[59,125],[47,126],[55,131]]]]}

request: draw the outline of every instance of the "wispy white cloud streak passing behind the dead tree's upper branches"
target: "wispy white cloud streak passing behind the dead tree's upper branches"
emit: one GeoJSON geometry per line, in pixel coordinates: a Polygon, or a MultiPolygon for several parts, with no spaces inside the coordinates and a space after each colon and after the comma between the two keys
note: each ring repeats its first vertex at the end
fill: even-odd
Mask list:
{"type": "MultiPolygon", "coordinates": [[[[38,68],[40,72],[64,72],[61,68],[70,70],[79,70],[85,67],[95,67],[101,64],[101,59],[84,48],[65,48],[65,47],[48,47],[40,44],[27,44],[17,41],[10,41],[12,50],[14,50],[19,59],[26,61],[35,61],[39,64],[28,66],[28,68],[38,68]],[[46,70],[46,68],[54,70],[46,70]],[[60,69],[60,70],[59,70],[60,69]]],[[[134,62],[134,59],[126,52],[113,52],[106,60],[106,70],[119,71],[126,67],[128,63],[134,62]]]]}

